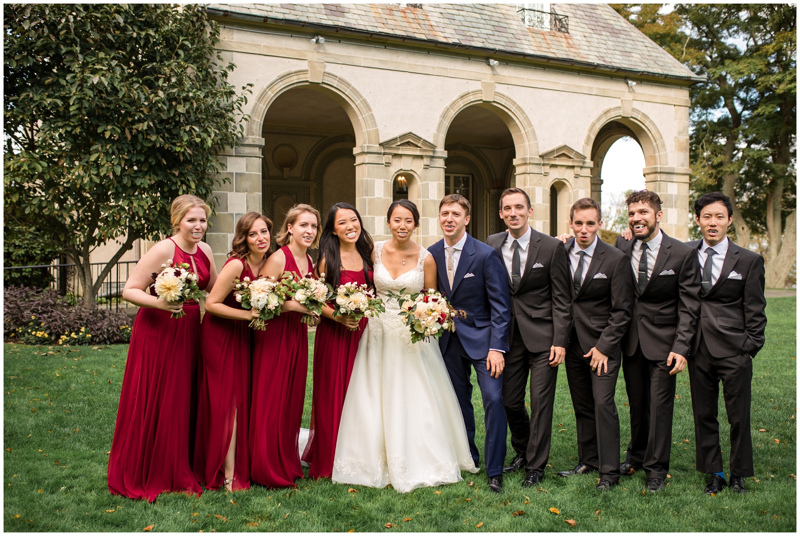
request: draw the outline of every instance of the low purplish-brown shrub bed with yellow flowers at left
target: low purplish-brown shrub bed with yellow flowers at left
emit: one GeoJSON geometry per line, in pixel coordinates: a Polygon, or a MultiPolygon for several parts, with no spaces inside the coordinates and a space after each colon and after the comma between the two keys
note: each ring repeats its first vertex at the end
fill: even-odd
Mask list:
{"type": "Polygon", "coordinates": [[[53,289],[6,287],[6,342],[23,344],[112,344],[130,342],[131,320],[122,311],[73,306],[53,289]]]}

